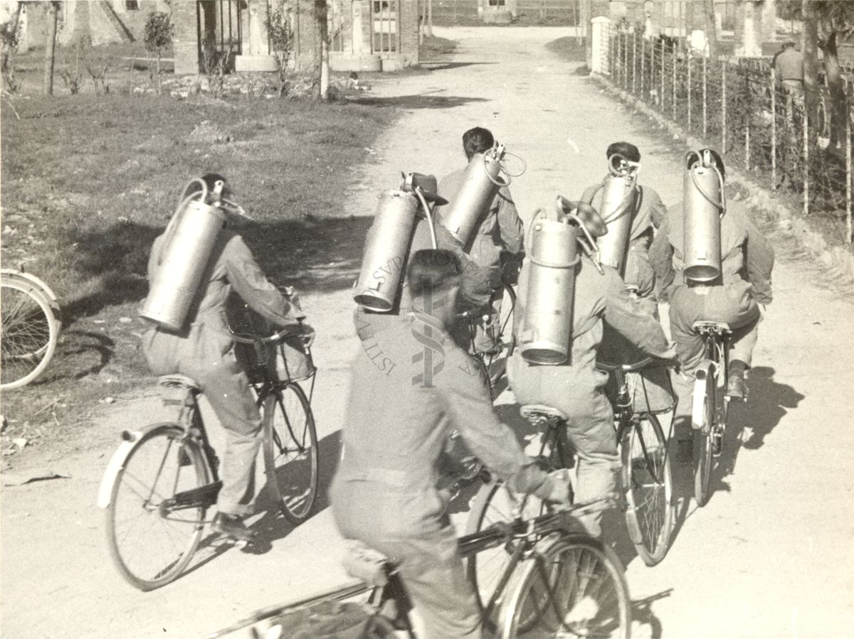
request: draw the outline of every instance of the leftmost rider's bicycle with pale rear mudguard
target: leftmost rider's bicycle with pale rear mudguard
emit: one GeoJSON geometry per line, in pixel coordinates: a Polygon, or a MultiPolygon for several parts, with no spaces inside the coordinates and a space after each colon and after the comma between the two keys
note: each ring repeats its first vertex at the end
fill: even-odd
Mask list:
{"type": "MultiPolygon", "coordinates": [[[[279,380],[267,362],[267,346],[281,349],[292,338],[284,331],[266,338],[233,335],[254,346],[258,356],[250,381],[263,415],[266,488],[285,518],[299,524],[310,514],[318,489],[314,416],[300,384],[279,380]]],[[[139,590],[154,590],[184,572],[222,487],[219,458],[199,411],[201,389],[185,375],[165,375],[158,383],[163,403],[178,407],[175,421],[121,433],[98,493],[110,555],[122,577],[139,590]]]]}

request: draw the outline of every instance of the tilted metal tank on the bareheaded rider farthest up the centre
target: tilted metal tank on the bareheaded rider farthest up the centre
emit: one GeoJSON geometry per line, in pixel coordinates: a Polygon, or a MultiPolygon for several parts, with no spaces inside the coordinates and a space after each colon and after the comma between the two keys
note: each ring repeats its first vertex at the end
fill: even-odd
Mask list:
{"type": "Polygon", "coordinates": [[[450,231],[451,235],[464,247],[471,239],[471,233],[477,226],[477,222],[488,211],[498,190],[509,186],[512,177],[518,177],[524,173],[524,168],[516,175],[508,173],[502,163],[506,155],[522,160],[517,154],[506,151],[504,145],[497,142],[485,153],[472,155],[463,172],[463,183],[459,187],[459,192],[453,202],[442,211],[442,226],[450,231]],[[501,173],[504,173],[504,178],[500,177],[501,173]]]}

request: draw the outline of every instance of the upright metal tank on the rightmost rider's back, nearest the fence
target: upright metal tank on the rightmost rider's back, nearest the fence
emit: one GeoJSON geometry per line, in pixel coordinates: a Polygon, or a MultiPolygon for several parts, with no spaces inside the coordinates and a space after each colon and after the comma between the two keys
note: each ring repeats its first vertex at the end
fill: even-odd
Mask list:
{"type": "Polygon", "coordinates": [[[707,148],[690,151],[685,168],[685,279],[712,282],[721,275],[721,218],[726,212],[723,176],[707,148]]]}

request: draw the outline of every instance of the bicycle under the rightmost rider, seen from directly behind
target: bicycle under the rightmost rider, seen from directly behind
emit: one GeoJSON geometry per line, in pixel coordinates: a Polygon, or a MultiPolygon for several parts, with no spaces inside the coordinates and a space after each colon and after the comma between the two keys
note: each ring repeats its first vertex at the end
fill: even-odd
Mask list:
{"type": "Polygon", "coordinates": [[[723,322],[694,322],[693,330],[703,337],[704,351],[694,381],[691,410],[694,498],[702,507],[709,501],[711,459],[721,455],[727,426],[727,370],[732,331],[723,322]]]}

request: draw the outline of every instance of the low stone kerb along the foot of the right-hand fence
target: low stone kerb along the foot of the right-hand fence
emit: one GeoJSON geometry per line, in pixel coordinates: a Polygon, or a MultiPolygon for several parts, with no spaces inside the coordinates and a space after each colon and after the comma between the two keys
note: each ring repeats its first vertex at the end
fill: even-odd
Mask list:
{"type": "MultiPolygon", "coordinates": [[[[605,87],[605,90],[608,90],[612,95],[635,107],[647,118],[654,120],[669,131],[674,139],[681,139],[686,144],[686,150],[708,146],[698,137],[686,135],[681,126],[664,118],[661,113],[646,105],[645,102],[638,100],[632,94],[617,88],[605,76],[594,73],[590,78],[605,87]]],[[[801,246],[828,270],[832,270],[835,276],[844,278],[849,284],[854,283],[854,253],[845,247],[828,247],[828,242],[822,235],[810,228],[808,220],[795,216],[793,211],[772,191],[729,166],[727,167],[727,183],[750,193],[751,195],[742,200],[746,206],[763,212],[768,218],[775,220],[778,229],[797,239],[801,246]]]]}

